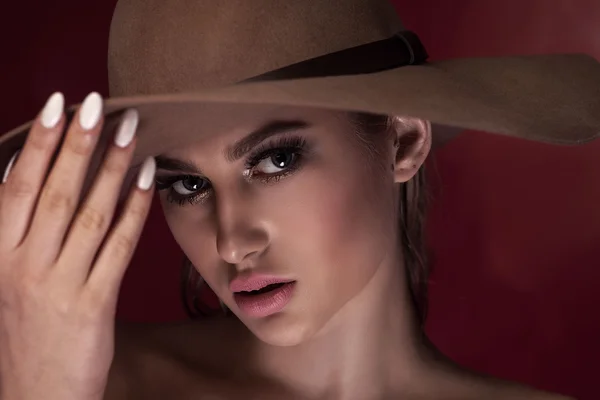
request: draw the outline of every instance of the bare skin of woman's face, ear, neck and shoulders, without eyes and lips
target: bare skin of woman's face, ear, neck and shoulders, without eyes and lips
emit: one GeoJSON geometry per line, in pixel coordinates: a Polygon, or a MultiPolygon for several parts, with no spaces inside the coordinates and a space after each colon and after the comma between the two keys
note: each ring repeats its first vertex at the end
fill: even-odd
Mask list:
{"type": "MultiPolygon", "coordinates": [[[[278,112],[277,119],[307,127],[267,142],[300,135],[310,149],[302,166],[277,182],[265,183],[261,175],[247,179],[244,159],[230,162],[223,156],[261,126],[240,127],[163,155],[193,164],[210,180],[210,195],[201,203],[170,202],[167,190],[160,199],[175,239],[237,318],[149,334],[134,353],[155,349],[165,383],[140,398],[173,388],[175,381],[187,388],[182,397],[200,398],[209,393],[217,398],[554,398],[458,368],[421,334],[397,245],[397,210],[399,185],[416,174],[430,151],[430,124],[398,119],[389,132],[372,137],[369,151],[346,114],[293,109],[278,112]],[[249,271],[297,281],[282,312],[251,318],[239,310],[228,283],[249,271]],[[210,345],[195,351],[193,345],[174,343],[210,345]],[[194,367],[182,372],[181,365],[194,367]],[[206,378],[215,371],[223,383],[206,378]]],[[[198,172],[160,165],[159,181],[198,172]]],[[[259,172],[272,165],[267,160],[259,172]]],[[[131,329],[129,337],[139,338],[141,330],[131,329]]]]}

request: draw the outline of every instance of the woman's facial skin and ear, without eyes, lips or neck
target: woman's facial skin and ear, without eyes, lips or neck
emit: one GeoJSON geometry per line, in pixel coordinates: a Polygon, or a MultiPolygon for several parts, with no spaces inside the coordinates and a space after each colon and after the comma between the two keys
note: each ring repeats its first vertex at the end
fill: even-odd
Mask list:
{"type": "MultiPolygon", "coordinates": [[[[257,166],[260,174],[244,179],[245,160],[230,163],[222,156],[241,139],[232,133],[166,154],[191,161],[210,178],[213,191],[203,204],[170,203],[167,191],[161,191],[167,223],[200,275],[258,339],[274,346],[294,346],[330,332],[336,337],[347,318],[338,314],[354,318],[358,310],[349,303],[376,276],[403,284],[397,276],[397,224],[390,218],[398,208],[395,182],[416,173],[413,166],[423,162],[430,144],[427,125],[415,122],[423,137],[410,160],[403,160],[405,172],[400,174],[385,168],[394,160],[391,136],[383,138],[390,144],[387,151],[377,143],[384,157],[364,164],[367,149],[349,134],[353,128],[347,118],[318,111],[288,113],[280,118],[309,125],[287,134],[302,136],[309,147],[292,174],[261,182],[268,176],[262,171],[274,170],[267,159],[257,166]],[[239,311],[229,281],[255,271],[297,281],[284,312],[256,319],[239,311]],[[340,321],[332,321],[334,317],[340,321]]],[[[159,169],[159,181],[163,174],[173,175],[159,169]]],[[[378,283],[372,290],[380,289],[378,283]]],[[[394,289],[400,288],[390,291],[404,292],[394,289]]]]}

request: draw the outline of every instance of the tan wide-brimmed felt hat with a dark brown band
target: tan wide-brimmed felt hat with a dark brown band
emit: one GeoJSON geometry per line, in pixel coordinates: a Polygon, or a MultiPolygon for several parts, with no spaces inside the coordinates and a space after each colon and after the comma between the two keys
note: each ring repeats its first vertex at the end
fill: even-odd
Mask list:
{"type": "MultiPolygon", "coordinates": [[[[556,144],[600,135],[600,64],[590,56],[427,59],[387,0],[120,0],[105,131],[138,110],[134,164],[290,106],[556,144]]],[[[30,124],[0,138],[0,167],[30,124]]]]}

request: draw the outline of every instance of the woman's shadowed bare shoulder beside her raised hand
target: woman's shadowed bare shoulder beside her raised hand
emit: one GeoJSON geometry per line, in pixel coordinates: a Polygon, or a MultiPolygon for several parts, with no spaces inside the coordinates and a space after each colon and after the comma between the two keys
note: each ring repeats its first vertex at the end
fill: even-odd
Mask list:
{"type": "Polygon", "coordinates": [[[215,377],[226,380],[245,336],[230,318],[120,323],[105,400],[184,398],[209,378],[214,386],[215,377]]]}

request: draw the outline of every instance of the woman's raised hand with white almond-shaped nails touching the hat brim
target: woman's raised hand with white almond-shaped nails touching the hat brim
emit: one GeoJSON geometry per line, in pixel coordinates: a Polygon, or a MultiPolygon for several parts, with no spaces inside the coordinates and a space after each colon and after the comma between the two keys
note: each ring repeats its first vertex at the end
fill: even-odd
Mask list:
{"type": "Polygon", "coordinates": [[[2,400],[103,398],[117,295],[152,199],[149,158],[109,231],[135,147],[130,110],[80,202],[102,99],[86,98],[61,145],[63,107],[61,94],[48,100],[0,185],[2,400]]]}

